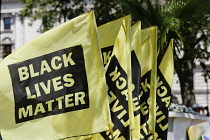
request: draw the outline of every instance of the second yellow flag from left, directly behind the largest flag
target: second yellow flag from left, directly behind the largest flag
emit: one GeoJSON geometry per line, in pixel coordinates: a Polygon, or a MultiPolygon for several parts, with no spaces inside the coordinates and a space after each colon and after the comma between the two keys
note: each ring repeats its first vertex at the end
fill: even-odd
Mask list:
{"type": "MultiPolygon", "coordinates": [[[[130,139],[130,113],[132,104],[130,83],[130,16],[98,27],[108,86],[112,131],[94,135],[93,139],[130,139]]],[[[133,113],[132,113],[133,114],[133,113]]]]}

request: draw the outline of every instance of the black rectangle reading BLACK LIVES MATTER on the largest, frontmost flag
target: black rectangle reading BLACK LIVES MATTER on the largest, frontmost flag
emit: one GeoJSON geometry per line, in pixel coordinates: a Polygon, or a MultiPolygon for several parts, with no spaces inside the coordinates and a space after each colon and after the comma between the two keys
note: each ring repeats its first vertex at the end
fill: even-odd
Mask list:
{"type": "Polygon", "coordinates": [[[81,45],[9,65],[16,123],[89,108],[81,45]]]}

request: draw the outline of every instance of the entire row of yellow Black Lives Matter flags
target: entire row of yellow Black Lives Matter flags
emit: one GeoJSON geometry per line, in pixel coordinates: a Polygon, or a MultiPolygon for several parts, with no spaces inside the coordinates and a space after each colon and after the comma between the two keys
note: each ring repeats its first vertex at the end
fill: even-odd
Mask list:
{"type": "Polygon", "coordinates": [[[130,20],[91,11],[1,61],[3,140],[167,139],[173,43],[157,66],[157,27],[130,20]]]}

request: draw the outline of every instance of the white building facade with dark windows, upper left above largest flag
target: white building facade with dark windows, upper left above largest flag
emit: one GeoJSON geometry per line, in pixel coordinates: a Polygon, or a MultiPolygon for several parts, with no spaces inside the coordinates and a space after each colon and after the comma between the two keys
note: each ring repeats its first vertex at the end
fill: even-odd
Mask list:
{"type": "Polygon", "coordinates": [[[1,0],[0,60],[40,33],[41,21],[29,26],[29,18],[21,17],[21,0],[1,0]]]}

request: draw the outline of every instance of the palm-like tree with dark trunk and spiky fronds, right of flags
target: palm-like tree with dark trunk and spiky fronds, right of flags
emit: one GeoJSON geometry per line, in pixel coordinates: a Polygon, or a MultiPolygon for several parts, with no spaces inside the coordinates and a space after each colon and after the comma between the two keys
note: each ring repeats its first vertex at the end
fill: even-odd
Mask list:
{"type": "Polygon", "coordinates": [[[133,19],[142,21],[144,27],[157,25],[159,62],[172,38],[174,44],[175,71],[178,74],[182,102],[187,106],[195,103],[193,69],[195,61],[202,60],[205,76],[208,69],[203,60],[209,59],[210,1],[173,0],[150,1],[120,0],[133,19]],[[160,2],[165,2],[161,5],[160,2]],[[200,43],[204,42],[201,46],[200,43]]]}

